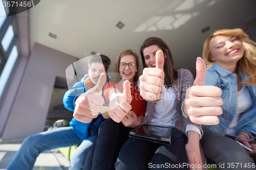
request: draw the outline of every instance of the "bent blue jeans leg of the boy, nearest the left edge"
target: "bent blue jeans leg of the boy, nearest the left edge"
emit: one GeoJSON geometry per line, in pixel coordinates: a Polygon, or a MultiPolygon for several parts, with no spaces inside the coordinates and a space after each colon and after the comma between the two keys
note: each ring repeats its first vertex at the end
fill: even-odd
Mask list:
{"type": "MultiPolygon", "coordinates": [[[[40,153],[62,147],[72,147],[73,145],[79,145],[80,143],[81,141],[72,127],[57,128],[29,136],[23,141],[22,146],[7,169],[33,169],[36,158],[40,153]]],[[[91,146],[91,144],[89,145],[91,146]]],[[[81,150],[85,150],[85,147],[79,147],[79,150],[76,150],[76,152],[79,153],[81,150]]],[[[82,165],[83,162],[81,162],[81,167],[82,165]]]]}

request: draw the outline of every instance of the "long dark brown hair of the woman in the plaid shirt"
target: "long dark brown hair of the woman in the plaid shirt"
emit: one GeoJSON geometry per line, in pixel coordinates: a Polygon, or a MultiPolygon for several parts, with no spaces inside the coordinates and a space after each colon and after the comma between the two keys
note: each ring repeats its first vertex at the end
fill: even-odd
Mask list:
{"type": "Polygon", "coordinates": [[[169,47],[166,45],[166,43],[157,37],[150,37],[147,38],[143,44],[140,47],[140,55],[142,59],[143,67],[147,67],[143,55],[144,48],[150,46],[150,45],[157,45],[161,50],[163,51],[163,54],[167,57],[165,58],[165,64],[163,66],[164,70],[164,85],[170,86],[173,85],[176,79],[178,78],[178,71],[174,68],[174,60],[172,57],[172,54],[170,53],[169,47]]]}

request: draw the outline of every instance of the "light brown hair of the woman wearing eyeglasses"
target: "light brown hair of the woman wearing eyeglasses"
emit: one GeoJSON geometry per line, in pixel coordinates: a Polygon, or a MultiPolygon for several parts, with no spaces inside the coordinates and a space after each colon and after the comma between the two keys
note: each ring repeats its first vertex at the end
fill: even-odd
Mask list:
{"type": "Polygon", "coordinates": [[[138,81],[138,77],[139,77],[139,70],[140,70],[140,64],[139,64],[139,57],[136,53],[134,53],[132,50],[125,50],[122,51],[117,59],[116,59],[116,68],[115,68],[115,72],[119,72],[119,62],[121,60],[121,58],[123,58],[126,55],[133,55],[135,57],[136,60],[136,66],[137,66],[137,72],[135,73],[134,77],[133,77],[133,81],[137,82],[138,81]]]}

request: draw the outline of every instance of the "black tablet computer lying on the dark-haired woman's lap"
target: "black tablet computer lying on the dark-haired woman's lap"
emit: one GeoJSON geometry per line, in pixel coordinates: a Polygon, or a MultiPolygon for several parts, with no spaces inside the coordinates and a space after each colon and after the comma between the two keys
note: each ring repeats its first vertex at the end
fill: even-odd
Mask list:
{"type": "Polygon", "coordinates": [[[142,125],[130,131],[129,137],[153,141],[162,144],[170,144],[172,127],[162,127],[154,125],[142,125]]]}

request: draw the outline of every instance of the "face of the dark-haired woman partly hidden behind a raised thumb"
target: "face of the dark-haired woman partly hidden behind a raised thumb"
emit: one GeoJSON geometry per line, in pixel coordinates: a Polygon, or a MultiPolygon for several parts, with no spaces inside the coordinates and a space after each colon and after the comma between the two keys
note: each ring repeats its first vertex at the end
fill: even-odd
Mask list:
{"type": "MultiPolygon", "coordinates": [[[[161,48],[157,45],[150,45],[144,48],[143,56],[147,67],[156,67],[156,52],[158,50],[161,50],[161,48]]],[[[164,58],[166,58],[166,55],[164,55],[164,58]]]]}

